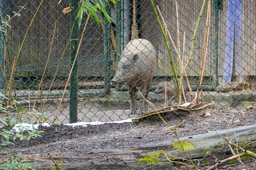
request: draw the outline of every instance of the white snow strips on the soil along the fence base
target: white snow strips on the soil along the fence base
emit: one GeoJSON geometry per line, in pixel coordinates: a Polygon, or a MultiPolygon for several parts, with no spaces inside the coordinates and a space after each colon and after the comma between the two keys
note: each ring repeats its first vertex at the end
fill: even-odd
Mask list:
{"type": "MultiPolygon", "coordinates": [[[[118,121],[112,121],[112,122],[99,122],[99,121],[95,121],[95,122],[77,122],[77,123],[67,123],[64,125],[68,125],[68,126],[84,126],[87,127],[87,125],[101,125],[101,124],[105,124],[105,123],[125,123],[125,122],[133,122],[132,119],[126,119],[126,120],[118,120],[118,121]]],[[[34,129],[37,129],[40,126],[40,124],[34,124],[34,129]]],[[[51,125],[48,123],[42,123],[42,126],[46,126],[46,127],[50,127],[51,125]]],[[[12,128],[12,131],[15,132],[19,132],[21,128],[22,130],[25,130],[25,128],[27,128],[28,130],[32,130],[32,124],[28,124],[28,123],[19,123],[14,125],[14,127],[12,128]]]]}

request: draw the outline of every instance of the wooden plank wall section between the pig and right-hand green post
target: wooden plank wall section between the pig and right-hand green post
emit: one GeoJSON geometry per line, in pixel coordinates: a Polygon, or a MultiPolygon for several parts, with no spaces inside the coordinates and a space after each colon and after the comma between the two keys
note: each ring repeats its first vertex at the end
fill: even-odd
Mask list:
{"type": "MultiPolygon", "coordinates": [[[[172,39],[174,40],[177,48],[178,48],[178,38],[177,38],[177,23],[176,23],[176,9],[175,9],[175,1],[174,0],[162,0],[162,1],[154,1],[155,6],[158,5],[163,16],[165,19],[165,22],[168,26],[168,29],[172,35],[172,39]]],[[[191,40],[193,36],[193,31],[195,28],[195,25],[198,20],[198,16],[200,13],[202,2],[198,0],[181,0],[179,1],[178,9],[179,9],[179,28],[180,28],[180,44],[181,44],[181,54],[182,54],[182,44],[183,44],[183,32],[186,31],[186,40],[185,40],[185,58],[184,61],[188,59],[188,55],[190,50],[188,49],[191,46],[191,40]]],[[[199,75],[199,68],[200,68],[200,59],[202,54],[202,48],[203,48],[203,36],[204,36],[204,28],[205,28],[205,22],[206,22],[206,11],[207,11],[207,5],[204,10],[204,15],[201,20],[201,24],[198,28],[198,37],[195,41],[195,55],[193,55],[193,60],[190,62],[188,67],[188,75],[190,76],[198,76],[199,75]]],[[[169,62],[169,56],[166,52],[165,43],[162,38],[162,34],[159,29],[159,25],[156,22],[156,17],[153,14],[153,10],[151,7],[151,4],[148,0],[142,0],[142,29],[141,34],[142,38],[149,39],[153,44],[156,45],[156,50],[159,51],[158,53],[158,75],[164,76],[164,75],[171,75],[171,69],[170,69],[170,62],[169,62]],[[152,26],[152,23],[153,26],[152,26]],[[167,68],[166,68],[167,66],[167,68]]],[[[179,70],[179,61],[176,56],[176,53],[174,53],[174,48],[171,44],[170,48],[172,50],[172,56],[175,60],[175,64],[177,65],[177,69],[179,70]]],[[[208,57],[207,64],[205,68],[205,72],[210,74],[211,73],[211,63],[213,62],[212,58],[208,57]]]]}

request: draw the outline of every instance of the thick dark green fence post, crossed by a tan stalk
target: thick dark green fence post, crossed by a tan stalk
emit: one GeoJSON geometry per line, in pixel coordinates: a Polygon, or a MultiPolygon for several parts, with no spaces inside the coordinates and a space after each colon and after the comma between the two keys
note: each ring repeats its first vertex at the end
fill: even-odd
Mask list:
{"type": "MultiPolygon", "coordinates": [[[[75,17],[77,15],[77,8],[78,8],[78,0],[71,0],[71,7],[74,7],[74,9],[71,12],[71,22],[70,22],[70,30],[72,29],[72,26],[74,24],[74,28],[71,34],[71,42],[70,42],[70,66],[72,66],[75,54],[78,47],[78,22],[75,20],[75,17]]],[[[78,87],[77,87],[77,60],[75,62],[71,77],[70,77],[70,96],[69,96],[69,123],[75,123],[77,122],[77,93],[78,93],[78,87]]]]}

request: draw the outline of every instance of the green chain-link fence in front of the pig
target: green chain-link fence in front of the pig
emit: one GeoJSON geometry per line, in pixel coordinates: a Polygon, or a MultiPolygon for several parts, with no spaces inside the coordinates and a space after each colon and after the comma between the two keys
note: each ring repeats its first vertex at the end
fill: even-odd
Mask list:
{"type": "MultiPolygon", "coordinates": [[[[12,91],[12,96],[16,95],[18,99],[29,99],[31,103],[37,100],[36,109],[40,111],[40,96],[42,95],[44,100],[51,87],[42,108],[45,115],[53,113],[49,117],[50,120],[56,115],[87,18],[83,17],[79,30],[77,27],[74,28],[70,39],[73,26],[71,15],[75,16],[77,12],[78,0],[62,1],[59,5],[58,2],[59,0],[45,0],[37,13],[18,58],[14,77],[16,92],[12,91]],[[73,11],[63,14],[62,10],[67,7],[74,7],[73,11]],[[47,62],[55,21],[57,21],[56,35],[43,79],[42,94],[35,99],[47,62]],[[69,41],[70,44],[63,53],[69,41]],[[60,67],[57,69],[59,63],[60,67]],[[56,77],[53,81],[55,73],[56,77]]],[[[184,50],[183,60],[186,63],[203,1],[178,0],[177,3],[180,51],[182,56],[184,50]]],[[[26,7],[21,11],[20,17],[14,17],[11,20],[11,28],[6,27],[7,42],[3,34],[0,38],[0,64],[9,80],[14,56],[18,53],[25,32],[40,2],[1,0],[1,4],[2,18],[13,15],[13,12],[19,11],[20,6],[26,7]]],[[[178,48],[175,0],[155,0],[154,4],[159,6],[178,48]]],[[[142,110],[152,109],[150,106],[145,106],[140,93],[138,93],[139,99],[136,99],[137,90],[141,90],[143,95],[155,104],[154,109],[165,105],[165,93],[160,92],[161,89],[156,89],[160,81],[172,79],[171,63],[150,1],[121,0],[116,1],[115,4],[110,2],[110,5],[106,5],[106,12],[113,19],[112,23],[107,22],[103,14],[99,14],[102,20],[99,25],[94,20],[88,23],[71,75],[69,90],[66,91],[56,115],[56,123],[75,122],[76,115],[77,121],[115,121],[137,117],[142,110]],[[134,39],[139,40],[130,43],[134,39]]],[[[186,70],[193,94],[199,80],[206,12],[207,5],[198,27],[192,60],[186,70]]],[[[201,85],[203,101],[215,100],[219,105],[239,110],[250,105],[255,106],[255,2],[213,0],[210,21],[208,53],[201,85]]],[[[169,44],[177,74],[180,76],[179,59],[173,45],[169,44]]],[[[186,82],[185,79],[184,82],[186,82]]],[[[5,93],[6,87],[1,72],[1,93],[5,93]]],[[[167,83],[167,89],[169,87],[174,88],[173,83],[167,83]]],[[[175,98],[174,95],[168,95],[169,91],[166,96],[170,99],[167,101],[175,98]]],[[[187,89],[185,92],[189,93],[187,89]]],[[[29,109],[29,103],[23,102],[20,107],[29,109]]]]}

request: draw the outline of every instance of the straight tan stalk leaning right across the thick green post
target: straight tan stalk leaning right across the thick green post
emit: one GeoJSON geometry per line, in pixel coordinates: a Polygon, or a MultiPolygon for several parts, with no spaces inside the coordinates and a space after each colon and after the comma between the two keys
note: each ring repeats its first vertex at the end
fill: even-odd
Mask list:
{"type": "MultiPolygon", "coordinates": [[[[69,73],[69,76],[68,76],[68,79],[67,79],[67,83],[66,83],[66,85],[65,85],[65,89],[64,89],[64,91],[63,91],[63,94],[62,94],[62,97],[61,97],[61,100],[60,100],[60,104],[59,104],[59,106],[58,106],[58,109],[57,109],[57,111],[56,111],[56,114],[55,114],[55,117],[54,117],[54,119],[53,119],[52,124],[55,122],[55,120],[56,120],[56,118],[57,118],[58,111],[59,111],[60,106],[61,106],[61,102],[63,101],[63,98],[64,98],[64,95],[65,95],[66,89],[67,89],[67,87],[68,87],[69,80],[70,80],[70,77],[71,77],[71,74],[72,74],[72,71],[73,71],[73,68],[74,68],[74,65],[75,65],[75,61],[76,61],[77,56],[78,56],[78,53],[79,53],[79,49],[80,49],[81,44],[82,44],[82,41],[83,41],[84,32],[85,32],[86,26],[87,26],[87,24],[88,24],[89,18],[90,18],[90,14],[88,14],[86,23],[85,23],[85,25],[84,25],[84,29],[83,29],[83,32],[82,32],[82,35],[81,35],[81,39],[80,39],[80,42],[79,42],[79,44],[78,44],[77,51],[76,51],[76,54],[75,54],[75,59],[74,59],[74,62],[73,62],[73,64],[72,64],[72,67],[71,67],[71,69],[70,69],[70,73],[69,73]]],[[[52,114],[53,114],[53,113],[52,113],[52,114]]],[[[51,115],[52,115],[52,114],[51,114],[51,115]]],[[[49,118],[51,115],[49,115],[47,118],[49,118]]]]}

